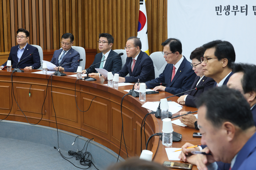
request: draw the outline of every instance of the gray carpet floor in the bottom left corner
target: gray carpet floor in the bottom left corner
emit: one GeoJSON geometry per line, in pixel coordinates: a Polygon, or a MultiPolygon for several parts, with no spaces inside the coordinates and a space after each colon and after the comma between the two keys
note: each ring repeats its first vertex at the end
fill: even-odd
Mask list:
{"type": "MultiPolygon", "coordinates": [[[[82,148],[78,149],[81,150],[82,148]]],[[[61,153],[65,157],[70,157],[67,151],[61,150],[61,153]]],[[[79,161],[75,160],[75,157],[69,159],[69,161],[81,168],[88,167],[80,165],[79,161]]],[[[63,159],[53,147],[16,139],[0,138],[0,169],[78,170],[79,168],[63,159]]],[[[89,169],[96,170],[93,165],[89,169]]]]}

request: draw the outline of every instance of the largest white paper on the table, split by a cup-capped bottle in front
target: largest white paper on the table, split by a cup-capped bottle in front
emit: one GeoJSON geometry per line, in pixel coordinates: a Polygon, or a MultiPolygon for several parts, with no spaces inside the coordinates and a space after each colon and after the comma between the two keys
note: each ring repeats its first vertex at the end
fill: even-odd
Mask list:
{"type": "MultiPolygon", "coordinates": [[[[159,105],[159,102],[146,102],[145,104],[142,105],[142,107],[145,107],[149,110],[152,111],[157,111],[157,107],[159,105]]],[[[182,106],[176,102],[168,102],[169,105],[169,112],[172,112],[172,114],[177,113],[182,109],[182,106]]]]}

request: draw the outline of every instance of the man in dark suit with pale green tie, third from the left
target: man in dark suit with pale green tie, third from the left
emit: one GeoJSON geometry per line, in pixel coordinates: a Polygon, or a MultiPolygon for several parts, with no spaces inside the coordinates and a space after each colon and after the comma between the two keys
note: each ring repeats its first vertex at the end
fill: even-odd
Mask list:
{"type": "Polygon", "coordinates": [[[112,46],[114,43],[113,36],[110,35],[109,33],[101,33],[99,34],[98,43],[99,43],[99,51],[101,51],[101,53],[95,55],[93,64],[91,64],[91,66],[96,63],[98,64],[96,64],[95,66],[89,67],[86,70],[83,70],[82,73],[85,74],[88,72],[89,75],[99,75],[99,73],[95,70],[95,68],[104,68],[108,72],[112,72],[112,74],[115,74],[116,72],[120,71],[122,67],[122,59],[120,56],[118,56],[116,52],[112,50],[112,46]],[[104,61],[104,62],[101,62],[101,61],[104,61]]]}

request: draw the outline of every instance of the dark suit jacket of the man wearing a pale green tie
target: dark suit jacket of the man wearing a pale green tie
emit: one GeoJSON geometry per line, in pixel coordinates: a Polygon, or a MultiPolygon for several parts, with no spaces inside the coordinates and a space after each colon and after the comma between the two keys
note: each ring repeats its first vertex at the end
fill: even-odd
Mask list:
{"type": "MultiPolygon", "coordinates": [[[[118,55],[118,54],[116,52],[114,52],[113,50],[110,50],[108,58],[113,57],[115,55],[118,55]]],[[[98,64],[96,64],[95,66],[92,66],[92,67],[90,66],[89,68],[86,69],[86,72],[88,72],[88,73],[92,73],[92,72],[97,73],[95,68],[99,68],[99,66],[101,65],[101,63],[99,63],[99,62],[101,62],[101,59],[102,59],[102,52],[95,55],[93,64],[91,64],[91,66],[96,64],[96,63],[98,63],[98,64]]],[[[108,72],[112,72],[112,74],[114,75],[115,73],[120,71],[121,68],[122,68],[121,56],[118,55],[118,56],[115,56],[111,59],[106,60],[105,65],[104,65],[103,68],[105,70],[107,70],[108,72]]]]}

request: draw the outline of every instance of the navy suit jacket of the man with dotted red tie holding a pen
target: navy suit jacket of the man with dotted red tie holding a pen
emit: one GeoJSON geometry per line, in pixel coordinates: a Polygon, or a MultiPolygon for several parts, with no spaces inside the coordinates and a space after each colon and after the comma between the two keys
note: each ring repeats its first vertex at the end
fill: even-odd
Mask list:
{"type": "MultiPolygon", "coordinates": [[[[184,56],[183,56],[184,57],[184,56]]],[[[187,91],[193,84],[196,77],[195,72],[192,70],[190,62],[184,57],[180,64],[173,80],[172,80],[173,64],[167,64],[165,70],[159,75],[158,78],[149,81],[149,83],[166,83],[165,91],[171,94],[178,94],[187,91]],[[172,80],[172,82],[171,82],[172,80]]],[[[147,88],[154,88],[156,84],[147,84],[147,88]]],[[[181,95],[178,95],[181,96],[181,95]]]]}

